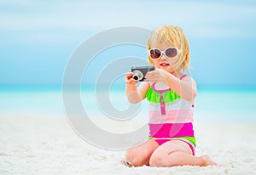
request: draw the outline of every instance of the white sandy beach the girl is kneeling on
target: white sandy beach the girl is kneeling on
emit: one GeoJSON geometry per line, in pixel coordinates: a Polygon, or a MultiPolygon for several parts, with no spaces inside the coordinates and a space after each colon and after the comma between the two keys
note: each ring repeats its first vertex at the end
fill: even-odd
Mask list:
{"type": "Polygon", "coordinates": [[[125,167],[125,151],[84,142],[64,116],[0,114],[0,174],[255,174],[254,123],[195,123],[196,155],[222,167],[125,167]]]}

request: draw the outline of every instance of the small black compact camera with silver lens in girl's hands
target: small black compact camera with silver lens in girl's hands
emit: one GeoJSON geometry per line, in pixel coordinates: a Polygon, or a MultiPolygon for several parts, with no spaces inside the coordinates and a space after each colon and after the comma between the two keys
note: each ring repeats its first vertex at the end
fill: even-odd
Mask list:
{"type": "Polygon", "coordinates": [[[154,71],[154,66],[136,66],[131,67],[131,72],[133,73],[132,78],[138,80],[139,82],[148,82],[145,78],[148,71],[154,71]]]}

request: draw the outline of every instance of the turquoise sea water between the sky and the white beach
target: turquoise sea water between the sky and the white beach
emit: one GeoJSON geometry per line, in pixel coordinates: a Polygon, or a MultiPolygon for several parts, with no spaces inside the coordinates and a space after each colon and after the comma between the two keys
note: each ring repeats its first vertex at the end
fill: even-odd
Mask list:
{"type": "MultiPolygon", "coordinates": [[[[125,88],[102,88],[101,91],[87,88],[76,93],[79,93],[84,110],[92,118],[111,119],[112,110],[116,110],[120,114],[117,120],[123,120],[122,114],[129,112],[127,109],[131,107],[125,97],[125,88]]],[[[0,89],[0,115],[65,116],[62,95],[60,86],[4,86],[0,89]]],[[[195,100],[195,120],[256,121],[255,104],[255,88],[199,88],[195,100]]],[[[133,108],[136,110],[131,114],[132,117],[147,120],[147,100],[133,108]]],[[[115,120],[114,117],[112,119],[115,120]]],[[[129,120],[129,117],[126,116],[124,120],[129,120]]]]}

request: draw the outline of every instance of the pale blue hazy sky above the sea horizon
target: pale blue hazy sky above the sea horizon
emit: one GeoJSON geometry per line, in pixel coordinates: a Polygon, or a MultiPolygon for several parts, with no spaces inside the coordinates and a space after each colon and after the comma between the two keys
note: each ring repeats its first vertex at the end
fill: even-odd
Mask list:
{"type": "MultiPolygon", "coordinates": [[[[90,37],[115,27],[154,30],[161,25],[183,28],[198,84],[256,86],[255,0],[2,0],[0,84],[61,84],[68,60],[90,37]]],[[[146,57],[141,48],[136,52],[146,57]]],[[[89,74],[101,73],[102,58],[89,74]]]]}

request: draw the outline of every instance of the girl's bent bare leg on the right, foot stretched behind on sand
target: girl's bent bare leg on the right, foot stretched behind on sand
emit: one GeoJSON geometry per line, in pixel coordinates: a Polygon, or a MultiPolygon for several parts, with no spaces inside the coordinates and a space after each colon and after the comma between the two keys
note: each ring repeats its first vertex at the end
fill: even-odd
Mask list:
{"type": "Polygon", "coordinates": [[[154,151],[150,157],[149,165],[153,167],[173,166],[208,166],[217,165],[207,155],[197,157],[192,154],[189,145],[180,140],[168,141],[154,151]]]}

